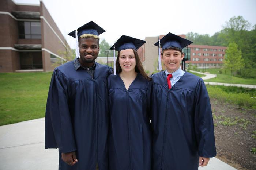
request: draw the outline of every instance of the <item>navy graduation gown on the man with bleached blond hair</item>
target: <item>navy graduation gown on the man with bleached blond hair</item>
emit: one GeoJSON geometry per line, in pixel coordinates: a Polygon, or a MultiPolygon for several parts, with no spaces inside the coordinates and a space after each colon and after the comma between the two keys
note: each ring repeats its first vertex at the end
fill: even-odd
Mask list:
{"type": "Polygon", "coordinates": [[[59,148],[59,170],[108,170],[109,127],[107,77],[110,67],[96,63],[94,78],[73,62],[52,75],[45,113],[45,148],[59,148]],[[73,166],[61,152],[76,151],[73,166]]]}

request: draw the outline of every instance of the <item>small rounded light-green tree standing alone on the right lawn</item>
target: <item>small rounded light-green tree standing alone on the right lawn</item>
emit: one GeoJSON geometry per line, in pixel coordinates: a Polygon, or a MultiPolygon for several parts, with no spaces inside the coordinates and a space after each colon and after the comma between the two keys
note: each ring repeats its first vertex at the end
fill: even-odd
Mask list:
{"type": "Polygon", "coordinates": [[[232,75],[236,73],[238,70],[244,68],[244,59],[242,58],[242,52],[238,49],[236,43],[231,42],[227,47],[224,67],[227,70],[230,70],[230,79],[232,79],[232,75]]]}

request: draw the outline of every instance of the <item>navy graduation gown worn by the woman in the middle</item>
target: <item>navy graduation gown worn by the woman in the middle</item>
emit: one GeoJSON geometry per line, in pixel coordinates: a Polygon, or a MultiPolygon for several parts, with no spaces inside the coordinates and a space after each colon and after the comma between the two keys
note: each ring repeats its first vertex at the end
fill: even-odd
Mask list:
{"type": "Polygon", "coordinates": [[[150,170],[150,87],[140,73],[128,90],[118,74],[108,77],[110,170],[150,170]]]}

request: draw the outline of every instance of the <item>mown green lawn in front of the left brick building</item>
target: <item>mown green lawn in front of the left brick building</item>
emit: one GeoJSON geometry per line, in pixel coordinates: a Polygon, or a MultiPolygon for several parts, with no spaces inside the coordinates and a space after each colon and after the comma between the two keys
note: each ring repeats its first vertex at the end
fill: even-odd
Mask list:
{"type": "Polygon", "coordinates": [[[51,76],[0,73],[0,125],[44,117],[51,76]]]}

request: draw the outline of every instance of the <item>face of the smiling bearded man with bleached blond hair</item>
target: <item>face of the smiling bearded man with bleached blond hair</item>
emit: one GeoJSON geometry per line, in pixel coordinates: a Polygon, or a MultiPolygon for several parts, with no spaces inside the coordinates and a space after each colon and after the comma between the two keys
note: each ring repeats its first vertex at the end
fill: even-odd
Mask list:
{"type": "Polygon", "coordinates": [[[80,58],[78,59],[82,66],[91,67],[93,66],[94,60],[99,54],[98,39],[94,38],[79,38],[79,53],[80,58]]]}

